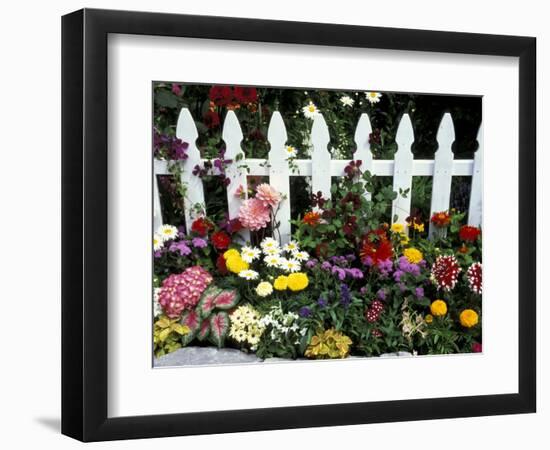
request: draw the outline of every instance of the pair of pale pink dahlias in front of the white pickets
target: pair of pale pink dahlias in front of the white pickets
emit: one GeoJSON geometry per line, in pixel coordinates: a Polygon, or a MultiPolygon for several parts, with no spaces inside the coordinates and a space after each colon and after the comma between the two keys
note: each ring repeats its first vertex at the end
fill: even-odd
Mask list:
{"type": "Polygon", "coordinates": [[[241,225],[252,231],[265,228],[271,219],[271,209],[281,201],[281,194],[269,184],[260,184],[256,196],[245,200],[239,210],[241,225]]]}

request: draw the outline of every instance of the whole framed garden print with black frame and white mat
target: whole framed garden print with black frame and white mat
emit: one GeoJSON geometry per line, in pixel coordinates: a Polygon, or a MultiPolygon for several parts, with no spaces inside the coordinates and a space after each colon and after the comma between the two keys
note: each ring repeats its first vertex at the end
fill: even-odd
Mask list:
{"type": "Polygon", "coordinates": [[[535,411],[534,38],[62,31],[64,434],[535,411]]]}

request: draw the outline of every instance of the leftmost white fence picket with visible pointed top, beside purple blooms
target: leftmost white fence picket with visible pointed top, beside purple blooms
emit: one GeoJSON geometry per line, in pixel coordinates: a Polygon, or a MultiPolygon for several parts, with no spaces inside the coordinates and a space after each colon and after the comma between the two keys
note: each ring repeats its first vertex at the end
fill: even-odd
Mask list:
{"type": "Polygon", "coordinates": [[[193,207],[199,204],[205,209],[205,202],[202,180],[198,176],[193,175],[193,168],[196,165],[201,165],[201,154],[196,144],[199,134],[197,133],[193,117],[187,108],[183,108],[180,111],[176,126],[176,137],[189,144],[187,148],[187,160],[184,163],[179,162],[179,164],[182,164],[181,182],[184,186],[187,186],[187,198],[184,200],[185,229],[189,232],[191,224],[195,219],[193,216],[193,207]]]}

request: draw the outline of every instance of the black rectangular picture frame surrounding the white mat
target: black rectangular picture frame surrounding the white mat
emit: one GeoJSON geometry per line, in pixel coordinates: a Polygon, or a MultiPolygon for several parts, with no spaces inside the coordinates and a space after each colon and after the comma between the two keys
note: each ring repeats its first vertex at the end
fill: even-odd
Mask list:
{"type": "Polygon", "coordinates": [[[533,37],[94,9],[64,16],[62,433],[82,441],[101,441],[535,412],[535,91],[533,37]],[[107,36],[110,33],[518,57],[518,393],[107,417],[107,36]]]}

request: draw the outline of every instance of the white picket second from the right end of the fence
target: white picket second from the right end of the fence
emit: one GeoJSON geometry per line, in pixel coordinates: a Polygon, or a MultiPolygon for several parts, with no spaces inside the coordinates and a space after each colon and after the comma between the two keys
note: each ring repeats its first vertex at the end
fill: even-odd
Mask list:
{"type": "MultiPolygon", "coordinates": [[[[436,212],[448,211],[451,200],[451,184],[453,180],[454,155],[452,145],[455,140],[455,129],[453,119],[449,113],[445,113],[437,131],[437,150],[434,157],[434,174],[432,181],[432,203],[430,217],[436,212]]],[[[445,235],[445,229],[437,229],[430,222],[430,234],[438,232],[445,235]]]]}

